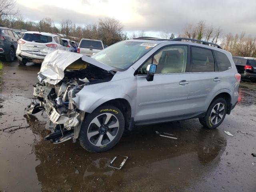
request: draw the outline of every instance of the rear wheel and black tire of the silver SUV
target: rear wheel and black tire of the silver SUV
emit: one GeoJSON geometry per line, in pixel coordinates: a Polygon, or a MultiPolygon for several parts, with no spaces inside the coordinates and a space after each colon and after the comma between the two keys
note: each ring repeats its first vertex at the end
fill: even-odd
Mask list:
{"type": "Polygon", "coordinates": [[[209,106],[206,115],[203,118],[199,118],[199,122],[202,126],[209,128],[209,129],[215,129],[223,122],[227,112],[227,102],[224,98],[216,98],[209,106]],[[218,110],[217,104],[220,103],[220,107],[218,110]],[[223,109],[222,109],[223,107],[223,109]],[[216,110],[216,113],[212,112],[212,110],[216,110]],[[219,111],[221,110],[221,111],[219,111]],[[223,111],[224,110],[224,111],[223,111]],[[223,111],[223,112],[222,112],[223,111]],[[222,118],[221,118],[222,116],[222,118]],[[214,118],[215,117],[215,118],[214,118]],[[217,118],[217,120],[216,120],[217,118]]]}

